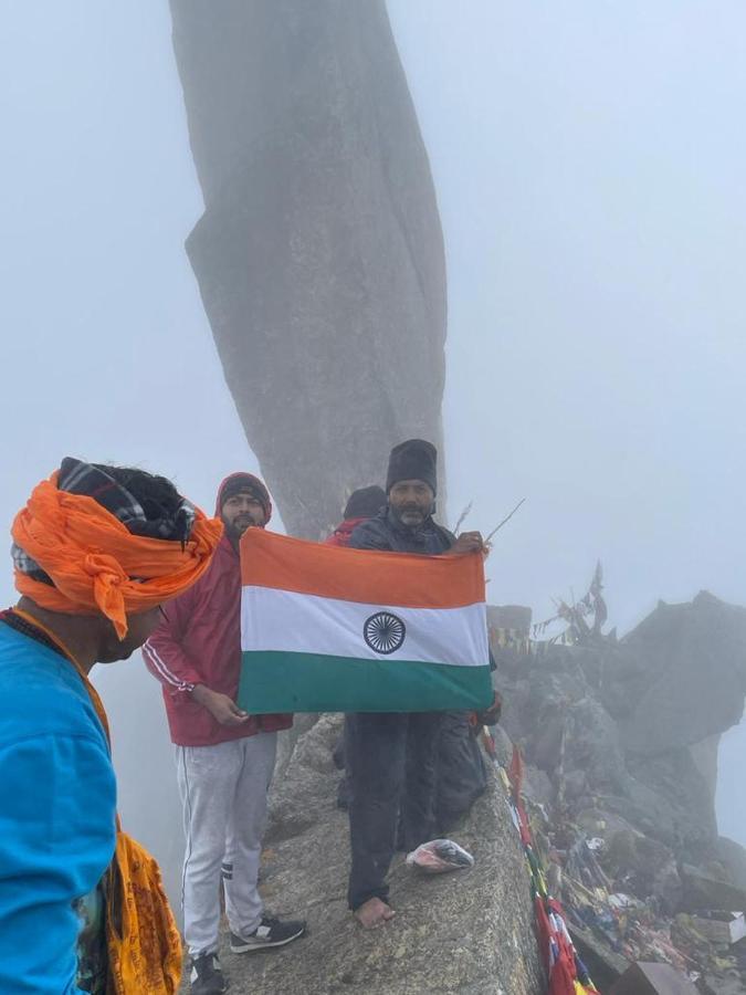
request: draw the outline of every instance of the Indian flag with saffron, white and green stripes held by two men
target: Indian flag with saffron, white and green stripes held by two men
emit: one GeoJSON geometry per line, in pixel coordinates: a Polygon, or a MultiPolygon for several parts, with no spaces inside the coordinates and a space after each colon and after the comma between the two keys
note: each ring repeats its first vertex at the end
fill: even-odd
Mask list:
{"type": "Polygon", "coordinates": [[[249,528],[238,703],[267,712],[425,712],[492,702],[484,568],[249,528]]]}

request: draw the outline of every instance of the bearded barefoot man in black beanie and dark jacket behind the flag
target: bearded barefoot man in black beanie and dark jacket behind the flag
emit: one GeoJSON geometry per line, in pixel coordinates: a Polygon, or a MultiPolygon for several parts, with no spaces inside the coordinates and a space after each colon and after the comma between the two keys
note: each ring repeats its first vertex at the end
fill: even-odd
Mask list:
{"type": "MultiPolygon", "coordinates": [[[[410,439],[391,450],[387,506],[355,530],[350,547],[432,556],[483,551],[479,532],[458,540],[433,521],[438,452],[410,439]]],[[[359,712],[347,716],[345,756],[349,778],[353,867],[348,901],[366,929],[395,914],[388,873],[397,842],[408,850],[432,838],[437,744],[441,712],[359,712]]]]}

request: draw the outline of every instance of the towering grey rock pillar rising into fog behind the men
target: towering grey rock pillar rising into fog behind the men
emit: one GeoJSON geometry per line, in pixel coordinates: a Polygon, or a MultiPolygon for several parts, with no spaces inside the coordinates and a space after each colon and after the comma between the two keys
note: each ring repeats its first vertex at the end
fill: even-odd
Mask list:
{"type": "Polygon", "coordinates": [[[187,242],[288,530],[404,438],[442,450],[445,269],[383,0],[171,0],[204,214],[187,242]]]}

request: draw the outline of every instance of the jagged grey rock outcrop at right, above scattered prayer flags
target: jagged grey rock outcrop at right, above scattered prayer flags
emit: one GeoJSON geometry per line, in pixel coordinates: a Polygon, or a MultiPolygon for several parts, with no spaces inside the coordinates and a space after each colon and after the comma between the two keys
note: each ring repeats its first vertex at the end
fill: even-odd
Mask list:
{"type": "Polygon", "coordinates": [[[620,643],[518,664],[494,651],[505,729],[558,802],[623,817],[687,859],[712,852],[718,739],[746,692],[745,609],[703,593],[660,605],[620,643]]]}

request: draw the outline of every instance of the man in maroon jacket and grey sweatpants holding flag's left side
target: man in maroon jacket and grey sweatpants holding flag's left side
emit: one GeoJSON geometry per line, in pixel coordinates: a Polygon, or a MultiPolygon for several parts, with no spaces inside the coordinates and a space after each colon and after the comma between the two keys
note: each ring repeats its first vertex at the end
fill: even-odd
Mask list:
{"type": "Polygon", "coordinates": [[[167,605],[143,649],[148,669],[164,685],[176,744],[187,836],[182,901],[192,995],[227,991],[217,956],[221,878],[233,953],[282,946],[305,930],[304,922],[264,915],[256,889],[277,730],[293,720],[252,716],[235,704],[241,669],[239,542],[246,528],[263,528],[270,521],[270,494],[251,473],[233,473],[220,485],[217,513],[225,534],[210,568],[167,605]]]}

